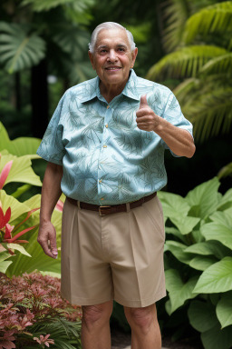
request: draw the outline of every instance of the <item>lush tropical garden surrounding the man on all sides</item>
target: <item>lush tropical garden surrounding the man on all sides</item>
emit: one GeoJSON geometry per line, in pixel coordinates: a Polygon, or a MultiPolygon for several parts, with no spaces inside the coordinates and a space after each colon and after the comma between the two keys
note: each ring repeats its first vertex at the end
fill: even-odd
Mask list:
{"type": "MultiPolygon", "coordinates": [[[[63,92],[92,78],[94,27],[131,30],[136,73],[167,85],[194,125],[192,159],[166,156],[168,295],[163,336],[232,348],[232,2],[3,0],[0,5],[0,349],[81,348],[82,309],[60,296],[58,259],[37,243],[45,161],[36,155],[63,92]]],[[[120,304],[111,325],[129,331],[120,304]]]]}

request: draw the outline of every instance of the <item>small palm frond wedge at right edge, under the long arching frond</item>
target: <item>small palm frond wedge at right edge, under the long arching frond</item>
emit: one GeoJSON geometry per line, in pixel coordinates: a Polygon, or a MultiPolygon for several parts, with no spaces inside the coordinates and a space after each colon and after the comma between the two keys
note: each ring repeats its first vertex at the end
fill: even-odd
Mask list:
{"type": "Polygon", "coordinates": [[[206,65],[202,66],[200,72],[205,74],[227,73],[232,75],[232,53],[210,59],[206,65]]]}

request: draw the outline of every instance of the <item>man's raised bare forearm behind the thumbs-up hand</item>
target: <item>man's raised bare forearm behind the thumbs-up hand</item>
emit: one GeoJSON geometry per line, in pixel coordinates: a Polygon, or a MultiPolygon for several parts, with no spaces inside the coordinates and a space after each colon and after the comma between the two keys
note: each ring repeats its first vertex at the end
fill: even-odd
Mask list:
{"type": "Polygon", "coordinates": [[[154,132],[160,135],[174,154],[186,157],[194,155],[195,145],[187,130],[174,126],[160,117],[160,123],[154,128],[154,132]]]}

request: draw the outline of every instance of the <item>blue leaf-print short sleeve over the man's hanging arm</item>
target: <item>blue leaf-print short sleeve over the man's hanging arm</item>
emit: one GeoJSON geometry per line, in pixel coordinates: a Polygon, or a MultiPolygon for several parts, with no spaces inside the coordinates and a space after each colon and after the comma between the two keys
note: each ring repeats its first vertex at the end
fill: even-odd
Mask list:
{"type": "Polygon", "coordinates": [[[63,165],[63,156],[65,154],[65,146],[63,145],[63,125],[61,116],[65,113],[66,101],[63,95],[57,105],[53,117],[43,135],[42,142],[37,149],[36,154],[43,157],[44,160],[56,165],[63,165]]]}

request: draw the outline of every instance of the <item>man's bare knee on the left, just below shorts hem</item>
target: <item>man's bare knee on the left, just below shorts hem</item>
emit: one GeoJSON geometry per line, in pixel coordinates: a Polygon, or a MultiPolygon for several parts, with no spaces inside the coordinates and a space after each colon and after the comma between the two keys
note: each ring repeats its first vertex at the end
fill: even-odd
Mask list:
{"type": "Polygon", "coordinates": [[[84,305],[82,306],[82,322],[87,327],[108,322],[111,317],[112,306],[110,304],[84,305]]]}

